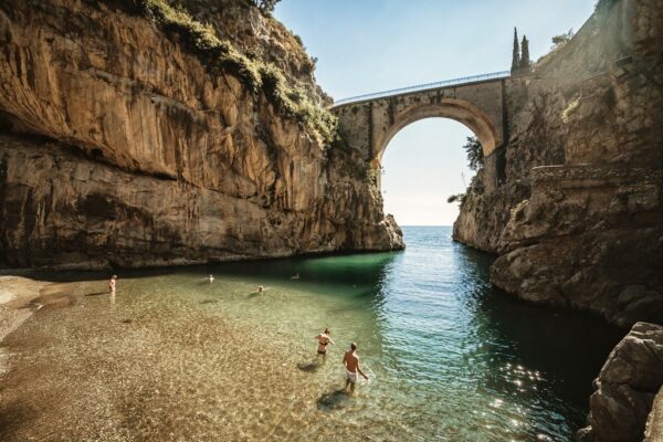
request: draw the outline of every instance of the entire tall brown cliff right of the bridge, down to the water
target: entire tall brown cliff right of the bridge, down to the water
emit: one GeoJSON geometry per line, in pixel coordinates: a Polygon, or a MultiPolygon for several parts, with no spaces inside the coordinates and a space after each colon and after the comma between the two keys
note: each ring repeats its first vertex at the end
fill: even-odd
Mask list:
{"type": "Polygon", "coordinates": [[[603,3],[509,80],[508,143],[454,238],[501,254],[491,277],[507,292],[628,327],[663,322],[663,4],[603,3]]]}

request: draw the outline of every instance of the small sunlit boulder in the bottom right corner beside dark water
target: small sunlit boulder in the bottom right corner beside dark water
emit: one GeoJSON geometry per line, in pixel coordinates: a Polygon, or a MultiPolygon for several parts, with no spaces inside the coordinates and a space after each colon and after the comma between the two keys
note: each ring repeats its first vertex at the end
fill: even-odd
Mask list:
{"type": "MultiPolygon", "coordinates": [[[[663,327],[636,323],[614,347],[594,380],[589,427],[578,432],[578,439],[582,442],[642,441],[648,414],[661,385],[663,327]]],[[[652,417],[649,424],[652,441],[656,440],[652,439],[653,428],[660,423],[655,419],[652,417]]]]}

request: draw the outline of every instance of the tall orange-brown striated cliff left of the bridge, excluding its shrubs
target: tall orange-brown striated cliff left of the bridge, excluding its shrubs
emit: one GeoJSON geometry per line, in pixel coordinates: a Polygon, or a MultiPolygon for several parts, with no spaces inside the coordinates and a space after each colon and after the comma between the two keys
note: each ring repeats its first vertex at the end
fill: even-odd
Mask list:
{"type": "MultiPolygon", "coordinates": [[[[177,33],[125,3],[0,3],[0,265],[403,246],[361,160],[232,73],[213,75],[177,33]]],[[[283,25],[239,1],[212,3],[230,11],[214,15],[217,32],[281,60],[290,82],[327,99],[283,25]]]]}

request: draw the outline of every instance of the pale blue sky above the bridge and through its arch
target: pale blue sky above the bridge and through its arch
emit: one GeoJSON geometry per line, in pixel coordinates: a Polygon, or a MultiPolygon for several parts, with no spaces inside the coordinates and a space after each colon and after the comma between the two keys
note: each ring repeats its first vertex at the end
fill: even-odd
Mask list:
{"type": "MultiPolygon", "coordinates": [[[[550,38],[578,30],[596,0],[282,0],[274,15],[318,59],[316,77],[334,98],[508,70],[513,29],[533,60],[550,38]]],[[[470,181],[460,123],[430,118],[387,147],[386,212],[402,225],[450,225],[446,197],[470,181]]]]}

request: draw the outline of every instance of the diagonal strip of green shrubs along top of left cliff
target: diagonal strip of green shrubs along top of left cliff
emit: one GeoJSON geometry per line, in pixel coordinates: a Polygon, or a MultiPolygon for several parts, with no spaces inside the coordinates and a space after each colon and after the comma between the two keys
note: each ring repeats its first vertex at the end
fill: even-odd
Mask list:
{"type": "Polygon", "coordinates": [[[144,17],[164,31],[179,34],[211,70],[232,73],[253,93],[262,91],[282,115],[299,122],[319,135],[322,141],[328,144],[336,137],[336,117],[313,103],[303,88],[290,85],[274,64],[244,55],[231,42],[219,39],[210,24],[201,23],[166,0],[126,1],[136,4],[144,17]]]}

